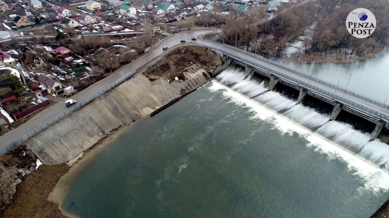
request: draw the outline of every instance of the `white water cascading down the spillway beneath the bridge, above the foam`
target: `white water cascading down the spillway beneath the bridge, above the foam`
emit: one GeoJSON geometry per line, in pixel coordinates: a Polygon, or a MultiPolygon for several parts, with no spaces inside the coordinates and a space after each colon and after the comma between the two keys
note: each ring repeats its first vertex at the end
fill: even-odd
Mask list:
{"type": "MultiPolygon", "coordinates": [[[[230,86],[233,90],[281,112],[295,122],[327,139],[341,144],[348,150],[365,157],[377,165],[382,165],[389,161],[389,145],[380,140],[369,141],[369,133],[355,130],[352,125],[330,121],[330,115],[322,114],[301,104],[297,105],[295,101],[288,99],[283,94],[267,91],[265,81],[261,81],[261,79],[252,75],[245,79],[244,75],[244,68],[230,65],[216,78],[230,86]]],[[[389,169],[388,164],[384,164],[383,167],[389,169]]]]}

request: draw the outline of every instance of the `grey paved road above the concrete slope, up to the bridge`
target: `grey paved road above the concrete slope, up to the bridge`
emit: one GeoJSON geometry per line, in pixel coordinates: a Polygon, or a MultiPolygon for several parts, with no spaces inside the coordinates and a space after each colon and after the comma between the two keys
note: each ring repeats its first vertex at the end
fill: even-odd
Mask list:
{"type": "MultiPolygon", "coordinates": [[[[76,95],[73,95],[71,99],[76,100],[77,102],[82,102],[86,100],[89,96],[101,91],[106,86],[110,85],[117,79],[123,77],[128,72],[140,67],[142,64],[146,62],[146,60],[150,61],[153,58],[158,57],[164,52],[168,52],[168,50],[163,51],[162,47],[173,47],[177,44],[180,44],[180,40],[188,40],[189,38],[195,37],[198,34],[202,34],[204,31],[192,31],[192,36],[190,31],[188,32],[181,32],[176,35],[170,36],[162,41],[162,43],[159,45],[158,48],[152,48],[152,50],[142,55],[138,60],[132,61],[129,64],[124,65],[120,69],[118,69],[114,74],[110,75],[109,77],[99,80],[92,85],[90,85],[85,90],[82,90],[81,92],[77,93],[76,95]]],[[[205,33],[212,32],[212,30],[206,30],[205,33]]],[[[54,117],[64,113],[68,108],[65,106],[65,99],[63,102],[60,102],[58,104],[53,105],[52,107],[45,109],[44,111],[41,111],[39,114],[35,115],[32,119],[30,119],[28,122],[26,122],[23,125],[20,125],[18,128],[13,129],[9,131],[8,133],[2,135],[0,137],[0,150],[4,148],[5,146],[13,143],[14,141],[18,140],[20,137],[22,137],[24,134],[34,130],[35,128],[43,125],[50,119],[53,119],[54,117]]]]}

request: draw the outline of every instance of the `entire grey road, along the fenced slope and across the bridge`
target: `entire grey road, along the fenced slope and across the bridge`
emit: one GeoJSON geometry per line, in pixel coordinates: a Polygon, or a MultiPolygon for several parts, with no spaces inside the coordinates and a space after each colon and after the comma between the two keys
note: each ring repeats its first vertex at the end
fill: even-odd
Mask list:
{"type": "MultiPolygon", "coordinates": [[[[110,85],[112,82],[116,81],[117,79],[123,77],[125,74],[128,72],[140,67],[142,64],[146,62],[146,60],[150,61],[159,55],[162,55],[167,51],[163,51],[162,47],[173,47],[175,45],[180,44],[180,40],[188,40],[191,39],[192,37],[196,37],[199,34],[203,33],[208,33],[208,32],[213,32],[213,30],[205,30],[205,31],[186,31],[186,32],[181,32],[176,35],[172,35],[166,39],[164,39],[161,44],[158,46],[158,48],[153,47],[152,50],[147,53],[142,55],[138,60],[134,60],[129,64],[124,65],[120,69],[118,69],[114,74],[110,75],[109,77],[99,80],[96,83],[92,84],[89,86],[87,89],[77,93],[73,97],[71,97],[73,100],[76,100],[77,102],[81,102],[86,100],[89,96],[93,95],[94,93],[97,93],[101,91],[103,88],[106,86],[110,85]]],[[[277,65],[272,64],[272,62],[268,62],[266,60],[261,60],[256,57],[254,57],[252,54],[247,54],[246,52],[242,50],[237,50],[233,47],[228,47],[228,46],[223,46],[222,44],[211,42],[211,41],[206,41],[202,40],[200,38],[197,39],[196,43],[206,46],[206,47],[211,47],[211,48],[217,48],[217,49],[223,49],[225,52],[232,53],[234,55],[238,55],[240,57],[243,57],[251,62],[255,62],[264,66],[268,66],[269,68],[276,70],[280,73],[283,73],[289,77],[299,79],[301,82],[305,82],[308,84],[311,84],[319,89],[325,90],[329,93],[335,93],[338,96],[341,96],[343,98],[349,99],[350,101],[353,101],[356,104],[363,105],[364,107],[367,107],[369,109],[375,110],[375,111],[380,111],[382,114],[385,114],[389,116],[389,109],[387,107],[381,107],[378,106],[377,104],[374,104],[373,102],[369,102],[367,100],[364,100],[360,97],[357,97],[351,93],[347,93],[344,90],[337,89],[336,87],[331,87],[328,85],[325,85],[315,79],[308,78],[308,77],[303,77],[300,76],[299,74],[288,71],[284,68],[281,68],[277,65]]],[[[40,125],[43,125],[47,121],[49,121],[51,118],[58,116],[59,114],[62,114],[64,111],[66,111],[67,108],[64,103],[59,103],[51,108],[46,109],[43,112],[40,112],[39,114],[35,115],[34,118],[29,120],[27,123],[19,126],[18,128],[4,134],[3,136],[0,137],[0,150],[1,148],[4,148],[5,146],[13,143],[14,141],[18,140],[21,136],[24,134],[34,130],[35,128],[39,127],[40,125]]]]}

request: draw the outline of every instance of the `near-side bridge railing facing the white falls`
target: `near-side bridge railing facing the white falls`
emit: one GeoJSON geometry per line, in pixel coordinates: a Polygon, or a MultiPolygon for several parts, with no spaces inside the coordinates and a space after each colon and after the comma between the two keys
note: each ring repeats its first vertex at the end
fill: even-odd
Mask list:
{"type": "Polygon", "coordinates": [[[248,63],[248,64],[250,64],[250,65],[260,67],[260,68],[262,68],[262,69],[264,69],[264,70],[266,70],[266,71],[268,71],[268,72],[271,72],[271,73],[273,73],[274,75],[277,75],[277,76],[279,76],[279,77],[287,78],[288,80],[294,81],[294,82],[298,83],[299,85],[301,85],[301,86],[303,86],[303,87],[305,87],[305,88],[309,88],[309,89],[311,89],[311,90],[315,90],[316,92],[321,93],[321,94],[324,94],[324,95],[326,95],[326,96],[328,96],[328,97],[330,97],[330,98],[336,99],[336,100],[339,101],[339,102],[342,102],[342,103],[345,103],[345,104],[347,104],[347,105],[353,106],[354,108],[361,109],[361,110],[363,110],[363,111],[369,112],[369,113],[371,113],[371,114],[373,114],[373,115],[376,115],[377,117],[381,117],[381,118],[384,118],[385,120],[389,121],[389,116],[386,116],[385,114],[382,114],[382,113],[380,113],[380,112],[378,112],[378,111],[376,111],[376,110],[369,109],[369,108],[367,108],[367,107],[365,107],[365,106],[363,106],[363,105],[357,104],[357,103],[355,103],[355,102],[353,102],[353,101],[350,101],[350,100],[348,100],[348,99],[345,99],[345,98],[343,98],[343,97],[341,97],[341,96],[339,96],[339,95],[336,95],[336,94],[334,94],[334,93],[329,93],[329,92],[327,92],[327,91],[325,91],[325,90],[319,89],[319,88],[317,88],[317,87],[315,87],[315,86],[312,86],[312,85],[310,85],[310,84],[308,84],[308,83],[301,82],[299,79],[289,77],[289,76],[287,76],[287,75],[285,75],[285,74],[283,74],[283,73],[280,73],[280,72],[278,72],[278,71],[269,69],[268,67],[265,67],[265,66],[263,66],[263,65],[261,65],[261,64],[258,64],[258,63],[249,61],[249,60],[247,60],[247,59],[241,58],[241,57],[239,57],[239,56],[237,56],[237,55],[234,55],[234,54],[231,54],[231,53],[229,53],[229,52],[222,51],[221,49],[218,49],[218,48],[213,48],[213,49],[218,50],[218,51],[221,51],[221,52],[223,52],[224,54],[227,54],[227,55],[229,55],[229,56],[231,56],[231,57],[236,58],[237,60],[241,60],[242,62],[246,62],[246,63],[248,63]]]}

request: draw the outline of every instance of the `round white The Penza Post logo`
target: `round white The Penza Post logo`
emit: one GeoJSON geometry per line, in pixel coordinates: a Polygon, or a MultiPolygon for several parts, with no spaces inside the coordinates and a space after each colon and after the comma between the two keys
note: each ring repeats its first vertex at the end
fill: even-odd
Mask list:
{"type": "Polygon", "coordinates": [[[366,38],[375,30],[375,16],[365,8],[352,11],[346,19],[347,30],[356,38],[366,38]]]}

